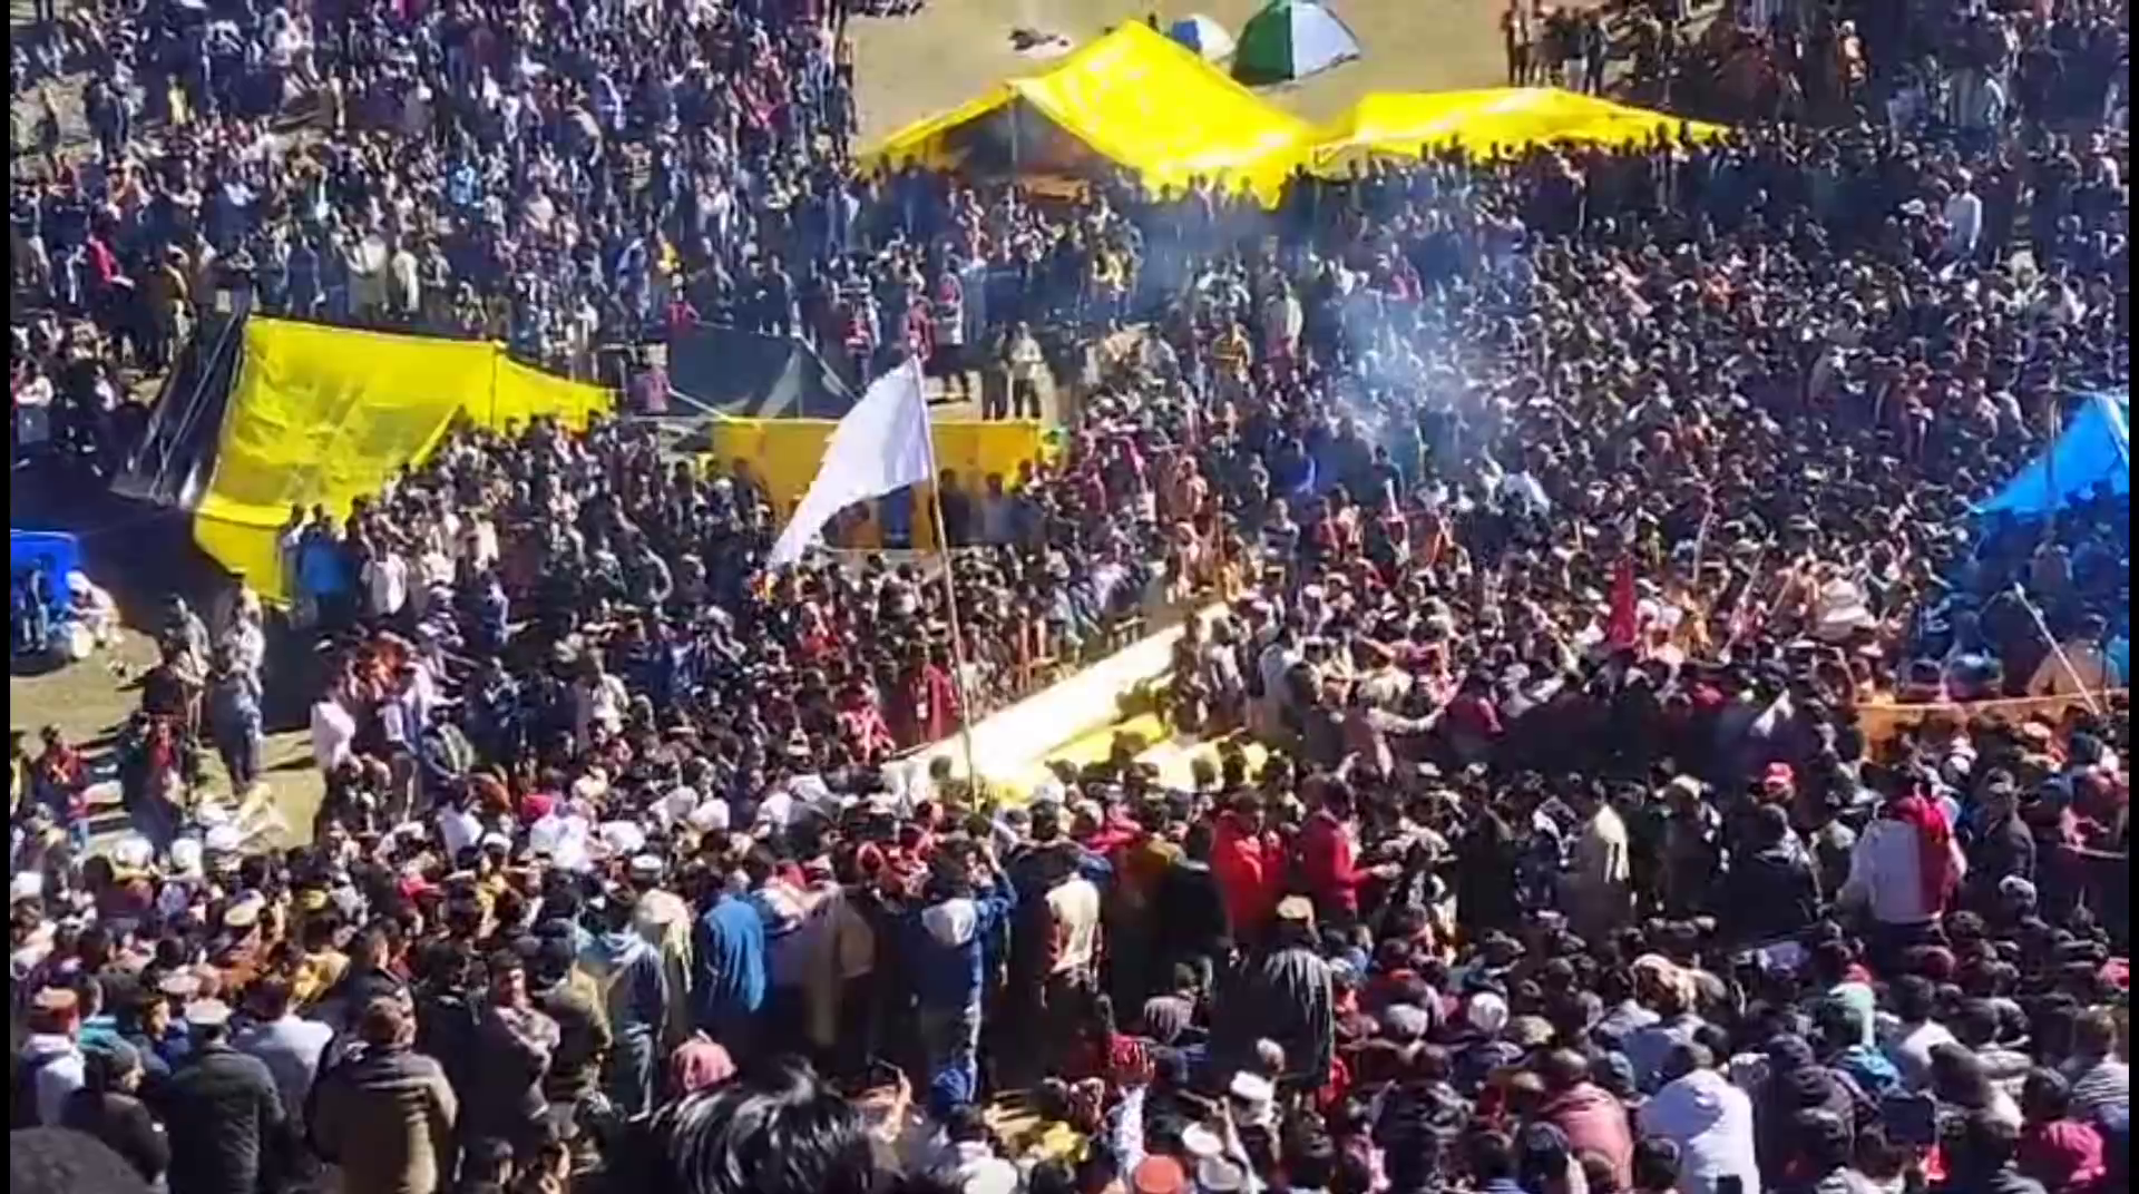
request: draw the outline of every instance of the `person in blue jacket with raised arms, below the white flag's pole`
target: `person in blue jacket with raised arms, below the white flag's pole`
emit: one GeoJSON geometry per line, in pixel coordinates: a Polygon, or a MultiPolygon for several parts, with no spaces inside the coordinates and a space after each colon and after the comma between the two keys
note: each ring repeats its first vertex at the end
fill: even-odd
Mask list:
{"type": "Polygon", "coordinates": [[[911,920],[913,984],[928,1059],[930,1106],[963,1106],[980,1093],[980,999],[986,942],[1018,907],[1018,888],[980,845],[965,871],[930,879],[911,920]]]}

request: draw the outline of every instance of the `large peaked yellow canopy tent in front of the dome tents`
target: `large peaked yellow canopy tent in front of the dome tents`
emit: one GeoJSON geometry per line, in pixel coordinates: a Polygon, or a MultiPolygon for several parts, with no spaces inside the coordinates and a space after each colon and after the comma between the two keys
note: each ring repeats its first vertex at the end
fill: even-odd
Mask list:
{"type": "Polygon", "coordinates": [[[1091,156],[1151,186],[1221,178],[1275,203],[1305,156],[1307,122],[1142,21],[1084,45],[1046,75],[894,133],[873,158],[1016,175],[1074,175],[1091,156]]]}

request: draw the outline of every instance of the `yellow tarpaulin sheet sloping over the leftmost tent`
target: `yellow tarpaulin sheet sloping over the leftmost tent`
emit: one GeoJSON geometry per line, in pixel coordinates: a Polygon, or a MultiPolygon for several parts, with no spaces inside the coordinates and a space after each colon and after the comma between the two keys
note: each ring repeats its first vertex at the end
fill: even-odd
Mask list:
{"type": "Polygon", "coordinates": [[[509,362],[498,345],[248,319],[193,537],[263,597],[284,599],[276,539],[291,507],[349,514],[424,460],[458,413],[490,428],[537,415],[586,426],[605,404],[603,389],[509,362]]]}

